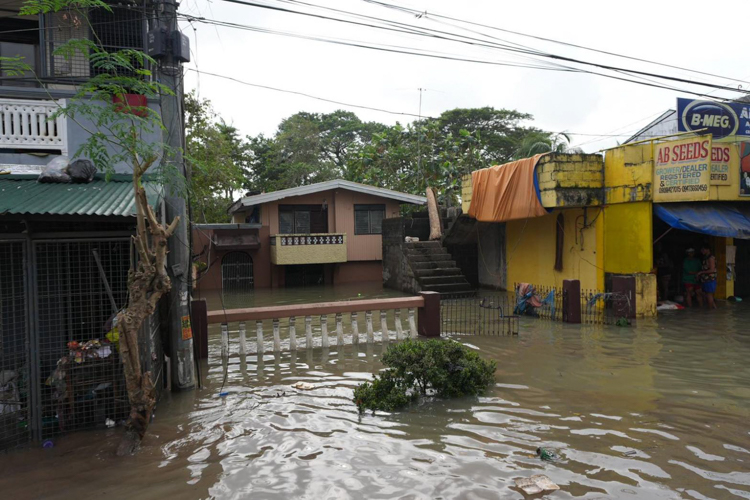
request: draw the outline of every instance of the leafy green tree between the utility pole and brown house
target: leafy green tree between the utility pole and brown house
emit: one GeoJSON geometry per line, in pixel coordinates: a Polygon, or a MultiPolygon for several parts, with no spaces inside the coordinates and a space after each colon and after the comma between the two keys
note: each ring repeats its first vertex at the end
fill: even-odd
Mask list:
{"type": "Polygon", "coordinates": [[[199,222],[229,222],[227,209],[242,189],[250,168],[250,144],[234,126],[218,117],[209,100],[199,99],[194,92],[185,96],[185,118],[193,218],[199,222]]]}

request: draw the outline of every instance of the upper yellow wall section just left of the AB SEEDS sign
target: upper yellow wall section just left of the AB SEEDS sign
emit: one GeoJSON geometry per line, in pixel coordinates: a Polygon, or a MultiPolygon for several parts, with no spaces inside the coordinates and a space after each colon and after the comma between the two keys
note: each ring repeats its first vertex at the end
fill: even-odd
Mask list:
{"type": "Polygon", "coordinates": [[[651,199],[654,177],[651,144],[610,149],[604,155],[604,200],[606,204],[651,199]]]}

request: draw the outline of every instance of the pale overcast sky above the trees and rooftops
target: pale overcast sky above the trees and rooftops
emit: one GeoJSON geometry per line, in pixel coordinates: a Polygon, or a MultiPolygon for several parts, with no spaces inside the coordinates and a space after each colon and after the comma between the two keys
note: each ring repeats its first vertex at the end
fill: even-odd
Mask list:
{"type": "MultiPolygon", "coordinates": [[[[355,19],[342,13],[291,2],[250,1],[355,19]]],[[[499,42],[498,39],[502,39],[547,53],[691,80],[709,81],[730,85],[733,88],[740,83],[493,31],[490,28],[474,26],[471,29],[480,33],[471,33],[446,25],[444,23],[448,21],[431,17],[431,14],[654,60],[721,77],[750,79],[750,66],[743,58],[746,30],[740,28],[741,22],[730,22],[733,15],[744,19],[742,13],[748,10],[747,0],[717,2],[714,4],[716,9],[712,12],[707,12],[707,4],[694,0],[632,0],[627,3],[601,0],[383,0],[386,3],[426,11],[426,16],[422,18],[374,6],[363,0],[304,1],[422,28],[451,31],[475,38],[485,37],[491,41],[492,39],[486,38],[489,35],[495,37],[496,43],[499,42]],[[720,9],[718,4],[721,4],[720,9]],[[735,14],[730,14],[733,12],[735,14]]],[[[269,30],[347,39],[357,43],[406,47],[408,50],[439,52],[452,57],[544,66],[554,63],[537,56],[535,60],[531,60],[525,55],[497,49],[353,26],[237,5],[223,0],[185,0],[180,12],[269,30]]],[[[362,19],[358,21],[372,24],[371,21],[362,19]]],[[[574,135],[573,145],[582,145],[586,151],[596,151],[615,145],[617,139],[624,140],[661,112],[674,108],[678,96],[691,97],[677,90],[650,88],[590,74],[378,52],[231,29],[197,21],[183,21],[181,25],[183,32],[191,39],[193,52],[193,60],[187,66],[203,72],[327,99],[413,114],[419,111],[417,89],[423,88],[426,90],[422,94],[422,114],[427,116],[437,116],[445,110],[457,107],[492,106],[531,113],[534,120],[529,124],[533,123],[553,132],[622,134],[622,137],[604,138],[574,135]]],[[[637,79],[597,68],[586,69],[637,79]]],[[[216,111],[246,135],[273,134],[283,118],[299,111],[325,113],[336,109],[348,109],[357,113],[363,120],[388,124],[396,121],[405,123],[414,119],[253,88],[215,76],[198,76],[192,71],[187,72],[185,82],[186,90],[197,89],[200,97],[210,99],[216,111]]],[[[716,98],[738,95],[684,83],[660,83],[680,89],[711,93],[711,96],[716,98]]],[[[744,84],[744,88],[750,86],[744,84]]]]}

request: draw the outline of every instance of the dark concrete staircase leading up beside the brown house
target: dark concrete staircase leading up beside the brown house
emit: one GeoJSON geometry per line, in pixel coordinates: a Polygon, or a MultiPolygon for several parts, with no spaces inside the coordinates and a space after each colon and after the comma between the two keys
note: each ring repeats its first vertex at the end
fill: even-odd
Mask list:
{"type": "Polygon", "coordinates": [[[406,243],[406,258],[423,292],[469,294],[471,285],[439,241],[406,243]]]}

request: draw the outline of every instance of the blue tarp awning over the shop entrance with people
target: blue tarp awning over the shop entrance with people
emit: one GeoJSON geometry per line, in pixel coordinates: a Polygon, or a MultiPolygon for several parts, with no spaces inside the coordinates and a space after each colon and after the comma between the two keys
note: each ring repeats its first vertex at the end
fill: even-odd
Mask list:
{"type": "Polygon", "coordinates": [[[708,202],[655,203],[654,213],[675,229],[750,239],[750,207],[708,202]]]}

